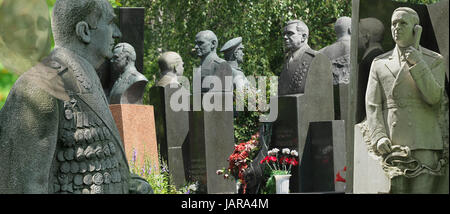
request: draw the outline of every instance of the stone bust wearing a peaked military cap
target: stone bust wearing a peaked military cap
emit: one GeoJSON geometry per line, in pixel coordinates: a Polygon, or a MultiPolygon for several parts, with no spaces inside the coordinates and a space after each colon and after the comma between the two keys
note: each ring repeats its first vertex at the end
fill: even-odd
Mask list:
{"type": "Polygon", "coordinates": [[[233,71],[233,85],[235,89],[243,90],[248,84],[244,72],[239,67],[244,61],[244,45],[242,37],[236,37],[226,42],[220,52],[224,53],[225,60],[230,64],[233,71]]]}

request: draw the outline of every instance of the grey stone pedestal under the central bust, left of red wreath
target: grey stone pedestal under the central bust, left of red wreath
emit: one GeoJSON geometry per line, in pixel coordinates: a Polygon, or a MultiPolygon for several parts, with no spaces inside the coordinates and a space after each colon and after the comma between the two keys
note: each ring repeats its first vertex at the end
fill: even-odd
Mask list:
{"type": "MultiPolygon", "coordinates": [[[[206,93],[202,93],[202,100],[206,93]]],[[[231,99],[232,92],[208,92],[231,99]]],[[[194,95],[195,96],[195,95],[194,95]]],[[[228,157],[234,150],[233,111],[191,111],[189,113],[189,176],[199,181],[201,193],[236,193],[233,178],[224,179],[216,171],[228,168],[228,157]]]]}

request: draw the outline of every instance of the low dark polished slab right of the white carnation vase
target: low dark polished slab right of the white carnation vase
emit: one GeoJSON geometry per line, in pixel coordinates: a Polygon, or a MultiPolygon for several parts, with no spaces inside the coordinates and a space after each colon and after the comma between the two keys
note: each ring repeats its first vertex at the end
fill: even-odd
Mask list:
{"type": "Polygon", "coordinates": [[[343,120],[311,122],[300,162],[301,192],[345,192],[346,145],[343,120]]]}

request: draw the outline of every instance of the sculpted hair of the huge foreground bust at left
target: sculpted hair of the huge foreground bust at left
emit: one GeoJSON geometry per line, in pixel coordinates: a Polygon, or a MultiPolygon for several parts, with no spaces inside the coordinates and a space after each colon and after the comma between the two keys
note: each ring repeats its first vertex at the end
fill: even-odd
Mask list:
{"type": "Polygon", "coordinates": [[[91,29],[97,28],[105,11],[105,0],[57,0],[52,14],[55,44],[64,44],[73,39],[78,22],[85,21],[91,29]]]}

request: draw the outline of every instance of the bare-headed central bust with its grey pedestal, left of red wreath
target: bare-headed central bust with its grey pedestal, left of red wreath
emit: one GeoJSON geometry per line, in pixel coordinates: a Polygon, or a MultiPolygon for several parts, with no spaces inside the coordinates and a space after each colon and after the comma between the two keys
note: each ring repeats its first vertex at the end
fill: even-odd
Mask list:
{"type": "Polygon", "coordinates": [[[235,193],[235,182],[216,174],[218,169],[228,167],[227,159],[234,149],[233,108],[226,105],[233,99],[232,81],[226,81],[232,80],[232,69],[217,56],[217,47],[214,32],[196,35],[195,50],[201,64],[194,68],[193,111],[189,115],[189,177],[199,181],[200,192],[235,193]],[[209,84],[211,78],[218,82],[209,84]],[[214,108],[206,109],[205,104],[211,101],[214,108]]]}

